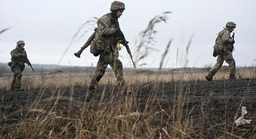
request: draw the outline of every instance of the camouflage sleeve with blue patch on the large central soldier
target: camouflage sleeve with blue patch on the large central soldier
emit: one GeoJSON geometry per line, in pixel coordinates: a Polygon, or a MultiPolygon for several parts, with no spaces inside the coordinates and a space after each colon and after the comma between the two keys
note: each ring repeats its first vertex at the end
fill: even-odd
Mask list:
{"type": "Polygon", "coordinates": [[[99,34],[103,37],[112,36],[116,33],[115,28],[110,28],[110,19],[107,16],[101,17],[98,22],[99,34]]]}

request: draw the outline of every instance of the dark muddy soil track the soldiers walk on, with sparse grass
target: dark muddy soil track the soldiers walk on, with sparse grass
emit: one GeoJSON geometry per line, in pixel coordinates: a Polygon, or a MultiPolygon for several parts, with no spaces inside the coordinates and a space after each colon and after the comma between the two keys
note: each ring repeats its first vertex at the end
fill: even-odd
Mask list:
{"type": "MultiPolygon", "coordinates": [[[[130,107],[134,107],[134,110],[140,113],[150,111],[151,108],[164,111],[161,114],[162,118],[155,117],[155,122],[150,123],[151,128],[166,126],[160,125],[163,122],[159,120],[168,120],[171,123],[188,121],[186,130],[190,132],[187,131],[186,138],[256,138],[256,79],[150,83],[131,85],[130,90],[132,93],[124,97],[117,94],[118,88],[115,86],[99,86],[97,94],[94,97],[89,96],[86,100],[87,87],[15,92],[1,90],[0,135],[7,138],[8,134],[15,134],[11,130],[15,129],[18,123],[36,117],[40,109],[49,111],[56,99],[58,109],[71,108],[77,112],[81,111],[85,104],[94,103],[97,109],[109,101],[113,101],[114,104],[122,97],[123,101],[134,98],[134,105],[130,107]],[[40,100],[38,104],[37,100],[40,100]],[[174,104],[176,109],[173,109],[174,104]],[[241,116],[241,106],[245,106],[248,112],[244,119],[250,119],[252,122],[236,128],[234,118],[241,116]]],[[[160,135],[162,138],[168,137],[164,133],[160,135]]],[[[18,135],[22,136],[21,133],[18,135]]],[[[93,137],[97,138],[97,135],[90,136],[93,137]]],[[[159,138],[159,134],[153,138],[159,138]]]]}

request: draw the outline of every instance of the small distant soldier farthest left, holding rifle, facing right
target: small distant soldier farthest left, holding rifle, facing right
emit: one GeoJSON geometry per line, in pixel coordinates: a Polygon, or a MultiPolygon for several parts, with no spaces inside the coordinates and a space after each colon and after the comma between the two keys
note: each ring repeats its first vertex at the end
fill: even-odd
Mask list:
{"type": "Polygon", "coordinates": [[[24,49],[24,46],[24,41],[18,41],[16,48],[11,51],[11,62],[8,63],[14,73],[10,88],[11,91],[24,90],[21,88],[21,72],[25,68],[25,63],[30,66],[30,62],[27,60],[27,53],[24,49]]]}

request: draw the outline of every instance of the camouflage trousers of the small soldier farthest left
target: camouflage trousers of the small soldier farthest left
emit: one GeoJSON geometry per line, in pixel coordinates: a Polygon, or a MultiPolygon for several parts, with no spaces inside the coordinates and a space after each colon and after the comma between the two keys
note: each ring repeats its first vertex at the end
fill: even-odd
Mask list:
{"type": "Polygon", "coordinates": [[[12,83],[11,83],[11,88],[10,90],[15,90],[16,89],[20,89],[21,88],[21,77],[22,77],[22,68],[21,66],[14,66],[12,68],[13,71],[13,79],[12,79],[12,83]]]}

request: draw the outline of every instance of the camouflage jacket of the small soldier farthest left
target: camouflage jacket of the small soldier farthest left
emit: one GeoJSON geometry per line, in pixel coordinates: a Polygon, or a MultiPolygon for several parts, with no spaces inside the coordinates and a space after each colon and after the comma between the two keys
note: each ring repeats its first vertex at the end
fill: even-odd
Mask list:
{"type": "Polygon", "coordinates": [[[15,49],[13,49],[11,51],[11,61],[21,65],[21,66],[24,66],[25,63],[29,63],[26,58],[24,57],[24,54],[25,57],[27,58],[27,53],[25,51],[24,48],[19,48],[19,47],[16,47],[15,49]]]}

